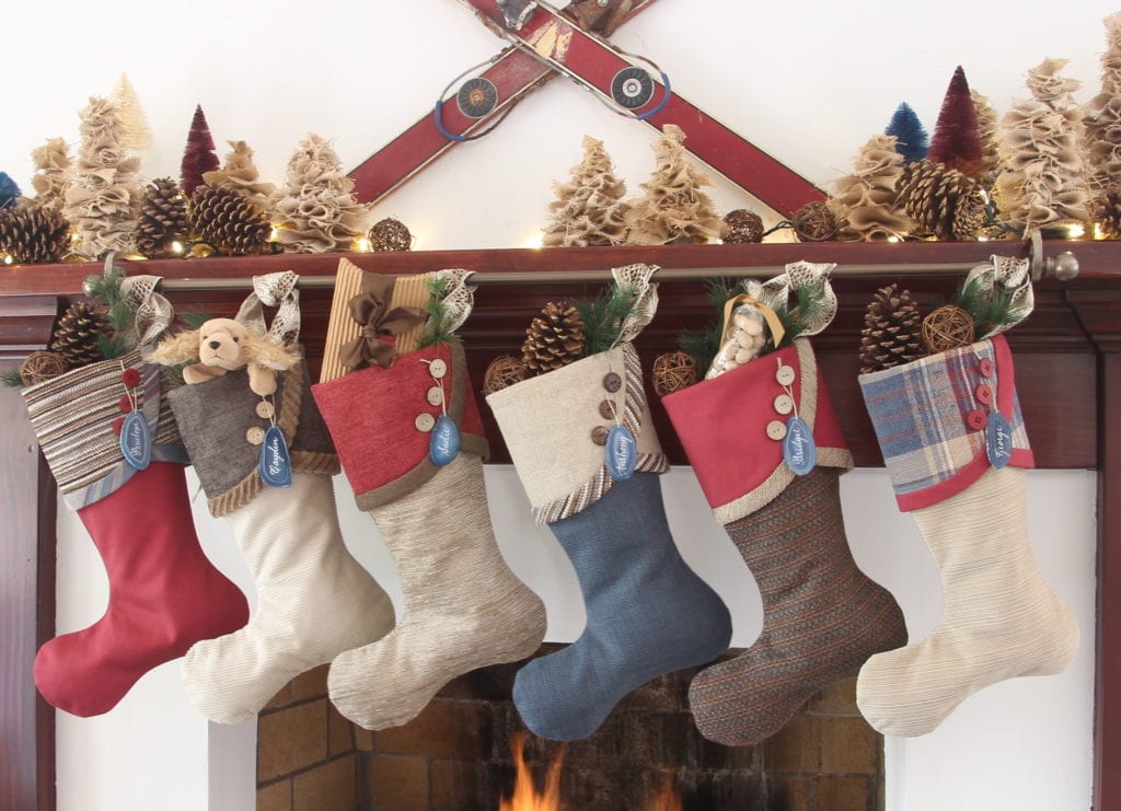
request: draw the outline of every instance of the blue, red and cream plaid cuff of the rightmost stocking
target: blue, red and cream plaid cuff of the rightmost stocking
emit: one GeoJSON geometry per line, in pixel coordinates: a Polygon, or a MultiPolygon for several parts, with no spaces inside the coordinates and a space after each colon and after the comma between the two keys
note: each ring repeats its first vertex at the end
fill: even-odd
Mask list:
{"type": "Polygon", "coordinates": [[[1008,464],[1035,467],[1003,335],[862,374],[860,388],[900,510],[945,501],[991,467],[994,411],[1011,431],[1008,464]]]}

